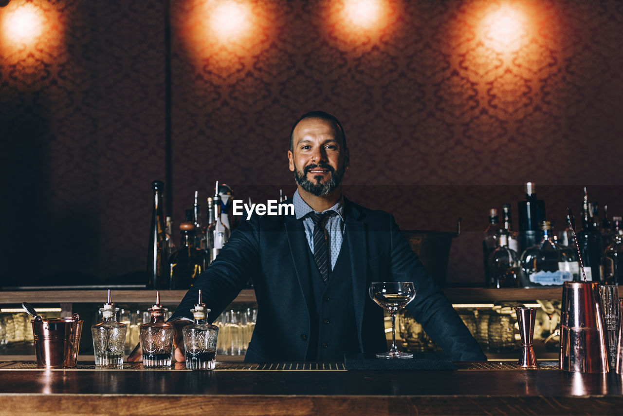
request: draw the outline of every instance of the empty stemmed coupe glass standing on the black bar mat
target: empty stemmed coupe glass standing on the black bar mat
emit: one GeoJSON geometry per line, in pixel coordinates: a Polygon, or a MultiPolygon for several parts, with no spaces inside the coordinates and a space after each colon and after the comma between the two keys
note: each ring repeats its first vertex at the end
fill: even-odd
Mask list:
{"type": "Polygon", "coordinates": [[[400,352],[396,347],[396,312],[407,306],[416,297],[413,282],[376,282],[369,288],[370,297],[391,316],[391,348],[388,352],[379,352],[378,358],[413,358],[410,352],[400,352]]]}

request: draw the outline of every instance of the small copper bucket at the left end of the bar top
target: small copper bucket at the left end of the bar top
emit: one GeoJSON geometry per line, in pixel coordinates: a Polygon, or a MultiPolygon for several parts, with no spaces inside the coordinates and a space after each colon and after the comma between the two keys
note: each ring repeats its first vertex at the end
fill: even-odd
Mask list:
{"type": "Polygon", "coordinates": [[[45,369],[75,367],[82,333],[78,314],[70,317],[31,320],[37,366],[45,369]]]}

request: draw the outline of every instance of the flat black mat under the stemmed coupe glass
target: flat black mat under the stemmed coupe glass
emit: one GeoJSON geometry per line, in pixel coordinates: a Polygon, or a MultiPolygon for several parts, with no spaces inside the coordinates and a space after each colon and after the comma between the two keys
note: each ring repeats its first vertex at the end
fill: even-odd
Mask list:
{"type": "Polygon", "coordinates": [[[383,359],[363,354],[345,354],[346,370],[455,370],[445,354],[437,352],[414,353],[413,358],[383,359]]]}

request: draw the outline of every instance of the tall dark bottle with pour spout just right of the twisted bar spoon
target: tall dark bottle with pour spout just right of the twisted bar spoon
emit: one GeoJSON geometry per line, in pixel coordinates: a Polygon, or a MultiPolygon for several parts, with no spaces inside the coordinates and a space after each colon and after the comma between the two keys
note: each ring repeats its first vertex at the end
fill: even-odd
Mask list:
{"type": "Polygon", "coordinates": [[[586,186],[584,186],[584,202],[582,205],[582,230],[578,233],[578,248],[584,262],[586,280],[602,281],[604,276],[604,246],[601,232],[595,226],[591,215],[591,203],[588,201],[586,186]]]}

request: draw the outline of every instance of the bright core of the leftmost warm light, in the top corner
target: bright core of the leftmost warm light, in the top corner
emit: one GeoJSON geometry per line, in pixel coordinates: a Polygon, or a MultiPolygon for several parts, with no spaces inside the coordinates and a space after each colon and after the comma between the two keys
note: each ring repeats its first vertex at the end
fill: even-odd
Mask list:
{"type": "Polygon", "coordinates": [[[31,44],[43,33],[44,17],[32,4],[19,6],[4,16],[2,34],[14,44],[31,44]]]}

